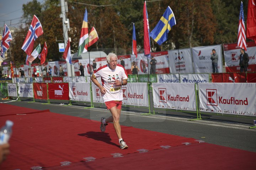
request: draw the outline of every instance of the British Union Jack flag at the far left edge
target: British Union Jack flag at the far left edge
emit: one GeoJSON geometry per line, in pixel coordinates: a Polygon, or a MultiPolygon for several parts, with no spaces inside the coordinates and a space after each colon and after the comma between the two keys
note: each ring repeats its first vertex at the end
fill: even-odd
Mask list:
{"type": "Polygon", "coordinates": [[[5,51],[10,48],[10,41],[12,40],[10,29],[5,24],[4,33],[1,40],[1,57],[5,59],[5,51]]]}

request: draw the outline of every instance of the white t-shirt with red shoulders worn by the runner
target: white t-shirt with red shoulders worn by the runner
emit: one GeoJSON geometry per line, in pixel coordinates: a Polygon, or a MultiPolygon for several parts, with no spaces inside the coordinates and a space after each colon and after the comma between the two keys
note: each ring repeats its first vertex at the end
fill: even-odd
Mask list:
{"type": "Polygon", "coordinates": [[[102,96],[103,101],[121,101],[123,100],[122,86],[115,85],[115,80],[127,80],[128,75],[122,65],[117,64],[116,69],[112,70],[108,64],[94,71],[94,78],[101,77],[102,86],[106,89],[106,93],[102,96]]]}

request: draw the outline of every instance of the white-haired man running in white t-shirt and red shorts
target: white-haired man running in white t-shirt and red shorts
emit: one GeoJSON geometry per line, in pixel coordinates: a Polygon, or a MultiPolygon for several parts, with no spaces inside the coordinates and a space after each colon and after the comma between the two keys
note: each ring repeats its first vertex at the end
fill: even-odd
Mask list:
{"type": "Polygon", "coordinates": [[[126,145],[121,136],[119,118],[121,114],[121,106],[123,100],[122,85],[127,84],[128,77],[126,70],[123,68],[123,66],[117,64],[116,54],[112,52],[109,53],[107,55],[107,63],[107,65],[95,70],[91,77],[92,82],[100,88],[107,109],[110,110],[112,114],[112,116],[108,117],[107,119],[104,117],[101,118],[100,129],[102,132],[104,132],[107,123],[113,122],[114,129],[119,140],[120,148],[126,149],[128,148],[128,146],[126,145]],[[98,77],[101,77],[102,86],[96,79],[98,77]]]}

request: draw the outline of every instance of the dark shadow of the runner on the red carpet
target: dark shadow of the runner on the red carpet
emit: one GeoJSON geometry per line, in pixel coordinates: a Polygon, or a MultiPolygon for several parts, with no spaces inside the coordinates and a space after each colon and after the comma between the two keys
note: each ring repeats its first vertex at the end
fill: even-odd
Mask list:
{"type": "Polygon", "coordinates": [[[96,141],[102,141],[102,142],[105,142],[107,144],[120,147],[116,143],[111,142],[111,138],[110,138],[109,134],[105,133],[105,132],[103,133],[103,132],[93,132],[93,131],[90,131],[90,132],[86,132],[85,134],[78,134],[78,135],[79,136],[85,136],[85,137],[94,139],[96,141]]]}

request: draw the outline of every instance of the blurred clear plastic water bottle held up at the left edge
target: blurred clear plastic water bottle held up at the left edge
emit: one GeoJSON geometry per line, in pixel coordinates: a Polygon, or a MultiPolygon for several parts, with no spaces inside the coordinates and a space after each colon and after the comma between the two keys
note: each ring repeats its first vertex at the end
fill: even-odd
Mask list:
{"type": "Polygon", "coordinates": [[[0,130],[0,145],[7,143],[12,134],[13,122],[11,120],[6,120],[5,126],[0,130]]]}

